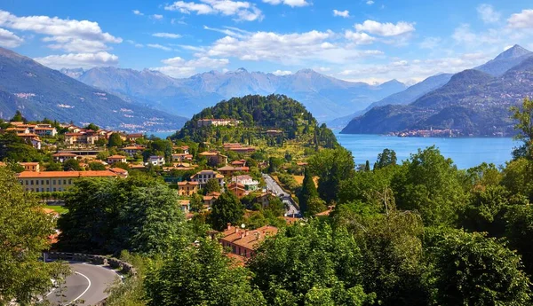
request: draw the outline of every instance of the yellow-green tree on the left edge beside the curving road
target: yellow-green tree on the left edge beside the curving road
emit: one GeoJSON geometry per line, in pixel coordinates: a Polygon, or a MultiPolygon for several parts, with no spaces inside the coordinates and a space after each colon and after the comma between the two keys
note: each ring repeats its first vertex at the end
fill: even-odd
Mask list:
{"type": "Polygon", "coordinates": [[[0,168],[0,304],[12,300],[28,305],[37,294],[51,287],[50,279],[61,279],[68,268],[60,263],[39,261],[50,247],[55,232],[52,215],[30,193],[24,192],[12,171],[0,168]]]}

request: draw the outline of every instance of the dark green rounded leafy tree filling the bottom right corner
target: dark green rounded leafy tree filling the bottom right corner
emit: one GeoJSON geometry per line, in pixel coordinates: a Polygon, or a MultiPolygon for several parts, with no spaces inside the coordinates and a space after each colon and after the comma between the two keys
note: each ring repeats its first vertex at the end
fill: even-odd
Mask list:
{"type": "Polygon", "coordinates": [[[434,262],[435,304],[529,305],[530,290],[520,256],[481,233],[435,230],[426,234],[434,262]]]}

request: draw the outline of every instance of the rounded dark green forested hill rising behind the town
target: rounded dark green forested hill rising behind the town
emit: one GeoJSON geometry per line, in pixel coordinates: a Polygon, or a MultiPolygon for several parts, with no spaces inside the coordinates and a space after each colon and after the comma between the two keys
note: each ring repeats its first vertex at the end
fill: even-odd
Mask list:
{"type": "Polygon", "coordinates": [[[323,147],[338,145],[325,124],[318,126],[313,114],[298,101],[284,95],[244,96],[221,101],[203,109],[185,123],[173,138],[190,137],[197,142],[241,142],[253,145],[254,139],[298,141],[323,147]],[[201,126],[202,119],[231,119],[227,126],[201,126]]]}

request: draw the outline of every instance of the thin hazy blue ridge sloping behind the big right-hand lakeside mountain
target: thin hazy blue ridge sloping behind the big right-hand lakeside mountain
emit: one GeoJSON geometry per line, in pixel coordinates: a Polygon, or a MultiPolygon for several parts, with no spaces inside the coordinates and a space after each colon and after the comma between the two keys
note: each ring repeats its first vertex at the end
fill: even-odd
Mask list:
{"type": "Polygon", "coordinates": [[[440,75],[430,76],[426,80],[422,82],[418,82],[410,86],[406,90],[396,92],[386,98],[379,100],[378,102],[374,102],[370,104],[370,106],[367,106],[367,108],[365,108],[364,110],[361,110],[361,111],[355,112],[354,114],[349,114],[347,116],[343,116],[335,120],[332,120],[330,122],[327,122],[328,126],[330,128],[342,129],[346,127],[348,122],[352,121],[352,119],[362,114],[365,114],[366,112],[370,111],[370,109],[376,106],[410,104],[411,102],[414,102],[417,98],[422,97],[426,93],[442,87],[444,84],[449,82],[450,78],[451,78],[451,74],[440,74],[440,75]]]}

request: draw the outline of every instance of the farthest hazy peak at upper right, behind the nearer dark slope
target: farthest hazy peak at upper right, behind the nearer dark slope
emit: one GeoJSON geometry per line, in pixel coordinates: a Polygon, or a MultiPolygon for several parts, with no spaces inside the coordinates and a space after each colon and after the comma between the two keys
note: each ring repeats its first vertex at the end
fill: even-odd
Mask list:
{"type": "Polygon", "coordinates": [[[498,55],[496,59],[492,59],[486,64],[483,64],[480,67],[475,67],[474,69],[489,75],[499,76],[505,74],[505,71],[520,64],[524,59],[531,56],[533,56],[533,52],[515,44],[512,48],[509,48],[498,55]]]}

